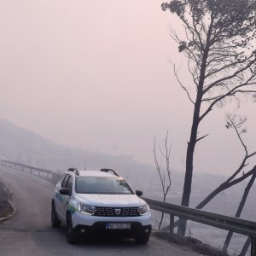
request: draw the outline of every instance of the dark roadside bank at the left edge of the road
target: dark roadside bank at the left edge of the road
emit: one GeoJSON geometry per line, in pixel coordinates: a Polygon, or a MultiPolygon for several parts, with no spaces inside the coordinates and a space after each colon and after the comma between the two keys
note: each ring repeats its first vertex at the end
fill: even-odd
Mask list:
{"type": "Polygon", "coordinates": [[[0,180],[0,223],[15,213],[8,186],[0,180]]]}

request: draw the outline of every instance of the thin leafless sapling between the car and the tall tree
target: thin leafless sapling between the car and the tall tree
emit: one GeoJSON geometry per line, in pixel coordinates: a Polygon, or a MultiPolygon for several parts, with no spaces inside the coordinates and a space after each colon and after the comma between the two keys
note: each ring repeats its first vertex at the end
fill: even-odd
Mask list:
{"type": "MultiPolygon", "coordinates": [[[[171,169],[170,169],[170,154],[171,154],[171,149],[172,149],[172,145],[169,146],[169,142],[168,142],[168,131],[166,133],[166,139],[164,144],[159,144],[159,151],[160,151],[160,155],[162,156],[162,158],[164,158],[164,162],[165,162],[165,169],[162,169],[162,158],[161,160],[159,160],[158,155],[157,155],[157,149],[156,149],[156,143],[155,143],[155,138],[154,138],[154,149],[153,149],[153,153],[154,153],[154,163],[155,163],[155,167],[156,170],[159,174],[160,177],[160,183],[161,183],[161,189],[163,192],[163,201],[166,201],[166,196],[168,195],[168,192],[171,189],[171,169]]],[[[160,218],[160,223],[159,223],[159,230],[161,227],[161,224],[163,222],[163,218],[164,218],[164,212],[162,212],[161,214],[161,218],[160,218]]]]}

